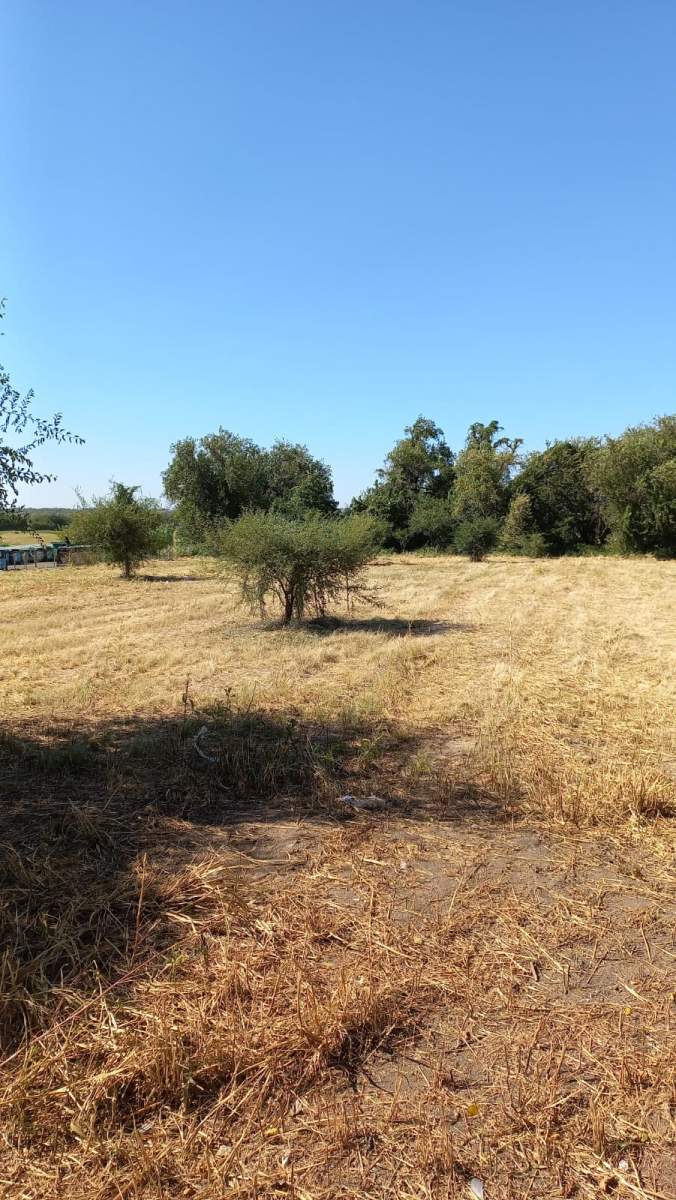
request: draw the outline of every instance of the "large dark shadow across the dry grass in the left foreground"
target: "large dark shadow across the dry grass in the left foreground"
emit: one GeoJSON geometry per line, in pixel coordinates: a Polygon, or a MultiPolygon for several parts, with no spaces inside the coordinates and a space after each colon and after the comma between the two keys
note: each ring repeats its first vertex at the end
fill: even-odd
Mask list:
{"type": "Polygon", "coordinates": [[[469,786],[437,780],[433,797],[412,781],[419,744],[382,724],[189,703],[84,733],[0,728],[0,1044],[49,1024],[65,991],[119,978],[149,940],[171,947],[177,910],[190,925],[199,904],[181,872],[246,822],[397,820],[432,800],[447,820],[497,815],[469,786]],[[340,800],[351,792],[384,805],[355,811],[340,800]]]}

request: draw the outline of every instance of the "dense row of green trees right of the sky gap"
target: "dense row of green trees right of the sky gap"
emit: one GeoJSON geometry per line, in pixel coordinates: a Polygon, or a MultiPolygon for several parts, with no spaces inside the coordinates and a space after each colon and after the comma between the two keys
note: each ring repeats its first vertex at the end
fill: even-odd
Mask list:
{"type": "Polygon", "coordinates": [[[457,456],[424,418],[352,502],[385,523],[384,545],[472,558],[591,550],[676,556],[676,416],[617,438],[554,442],[524,455],[497,421],[469,426],[457,456]]]}

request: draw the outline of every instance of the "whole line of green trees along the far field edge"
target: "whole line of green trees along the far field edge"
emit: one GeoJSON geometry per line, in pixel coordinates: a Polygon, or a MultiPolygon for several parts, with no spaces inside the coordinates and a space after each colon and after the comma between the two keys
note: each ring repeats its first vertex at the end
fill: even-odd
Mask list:
{"type": "Polygon", "coordinates": [[[223,523],[256,511],[294,522],[364,514],[393,551],[676,556],[676,415],[528,454],[495,420],[471,425],[455,452],[443,430],[419,416],[342,511],[330,468],[306,446],[265,450],[219,430],[171,452],[164,492],[179,538],[193,546],[208,547],[223,523]]]}

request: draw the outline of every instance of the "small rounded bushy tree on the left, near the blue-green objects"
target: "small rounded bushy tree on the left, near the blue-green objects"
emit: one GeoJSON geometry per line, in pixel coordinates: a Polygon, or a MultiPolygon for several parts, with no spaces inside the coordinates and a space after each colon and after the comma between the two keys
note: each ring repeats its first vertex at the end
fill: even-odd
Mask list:
{"type": "Polygon", "coordinates": [[[107,563],[121,566],[125,580],[167,546],[171,532],[156,500],[137,496],[138,487],[113,484],[110,493],[79,509],[71,523],[72,542],[92,546],[107,563]]]}

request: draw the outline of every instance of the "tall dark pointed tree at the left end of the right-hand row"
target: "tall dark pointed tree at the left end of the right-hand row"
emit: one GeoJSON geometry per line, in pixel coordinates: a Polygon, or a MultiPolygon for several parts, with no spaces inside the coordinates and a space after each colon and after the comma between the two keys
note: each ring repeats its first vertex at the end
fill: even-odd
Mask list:
{"type": "Polygon", "coordinates": [[[447,500],[454,480],[454,455],[435,421],[419,416],[405,434],[388,454],[373,486],[351,505],[352,511],[384,522],[385,544],[396,550],[425,544],[424,518],[431,509],[420,510],[415,530],[411,528],[413,514],[424,499],[447,500]]]}

